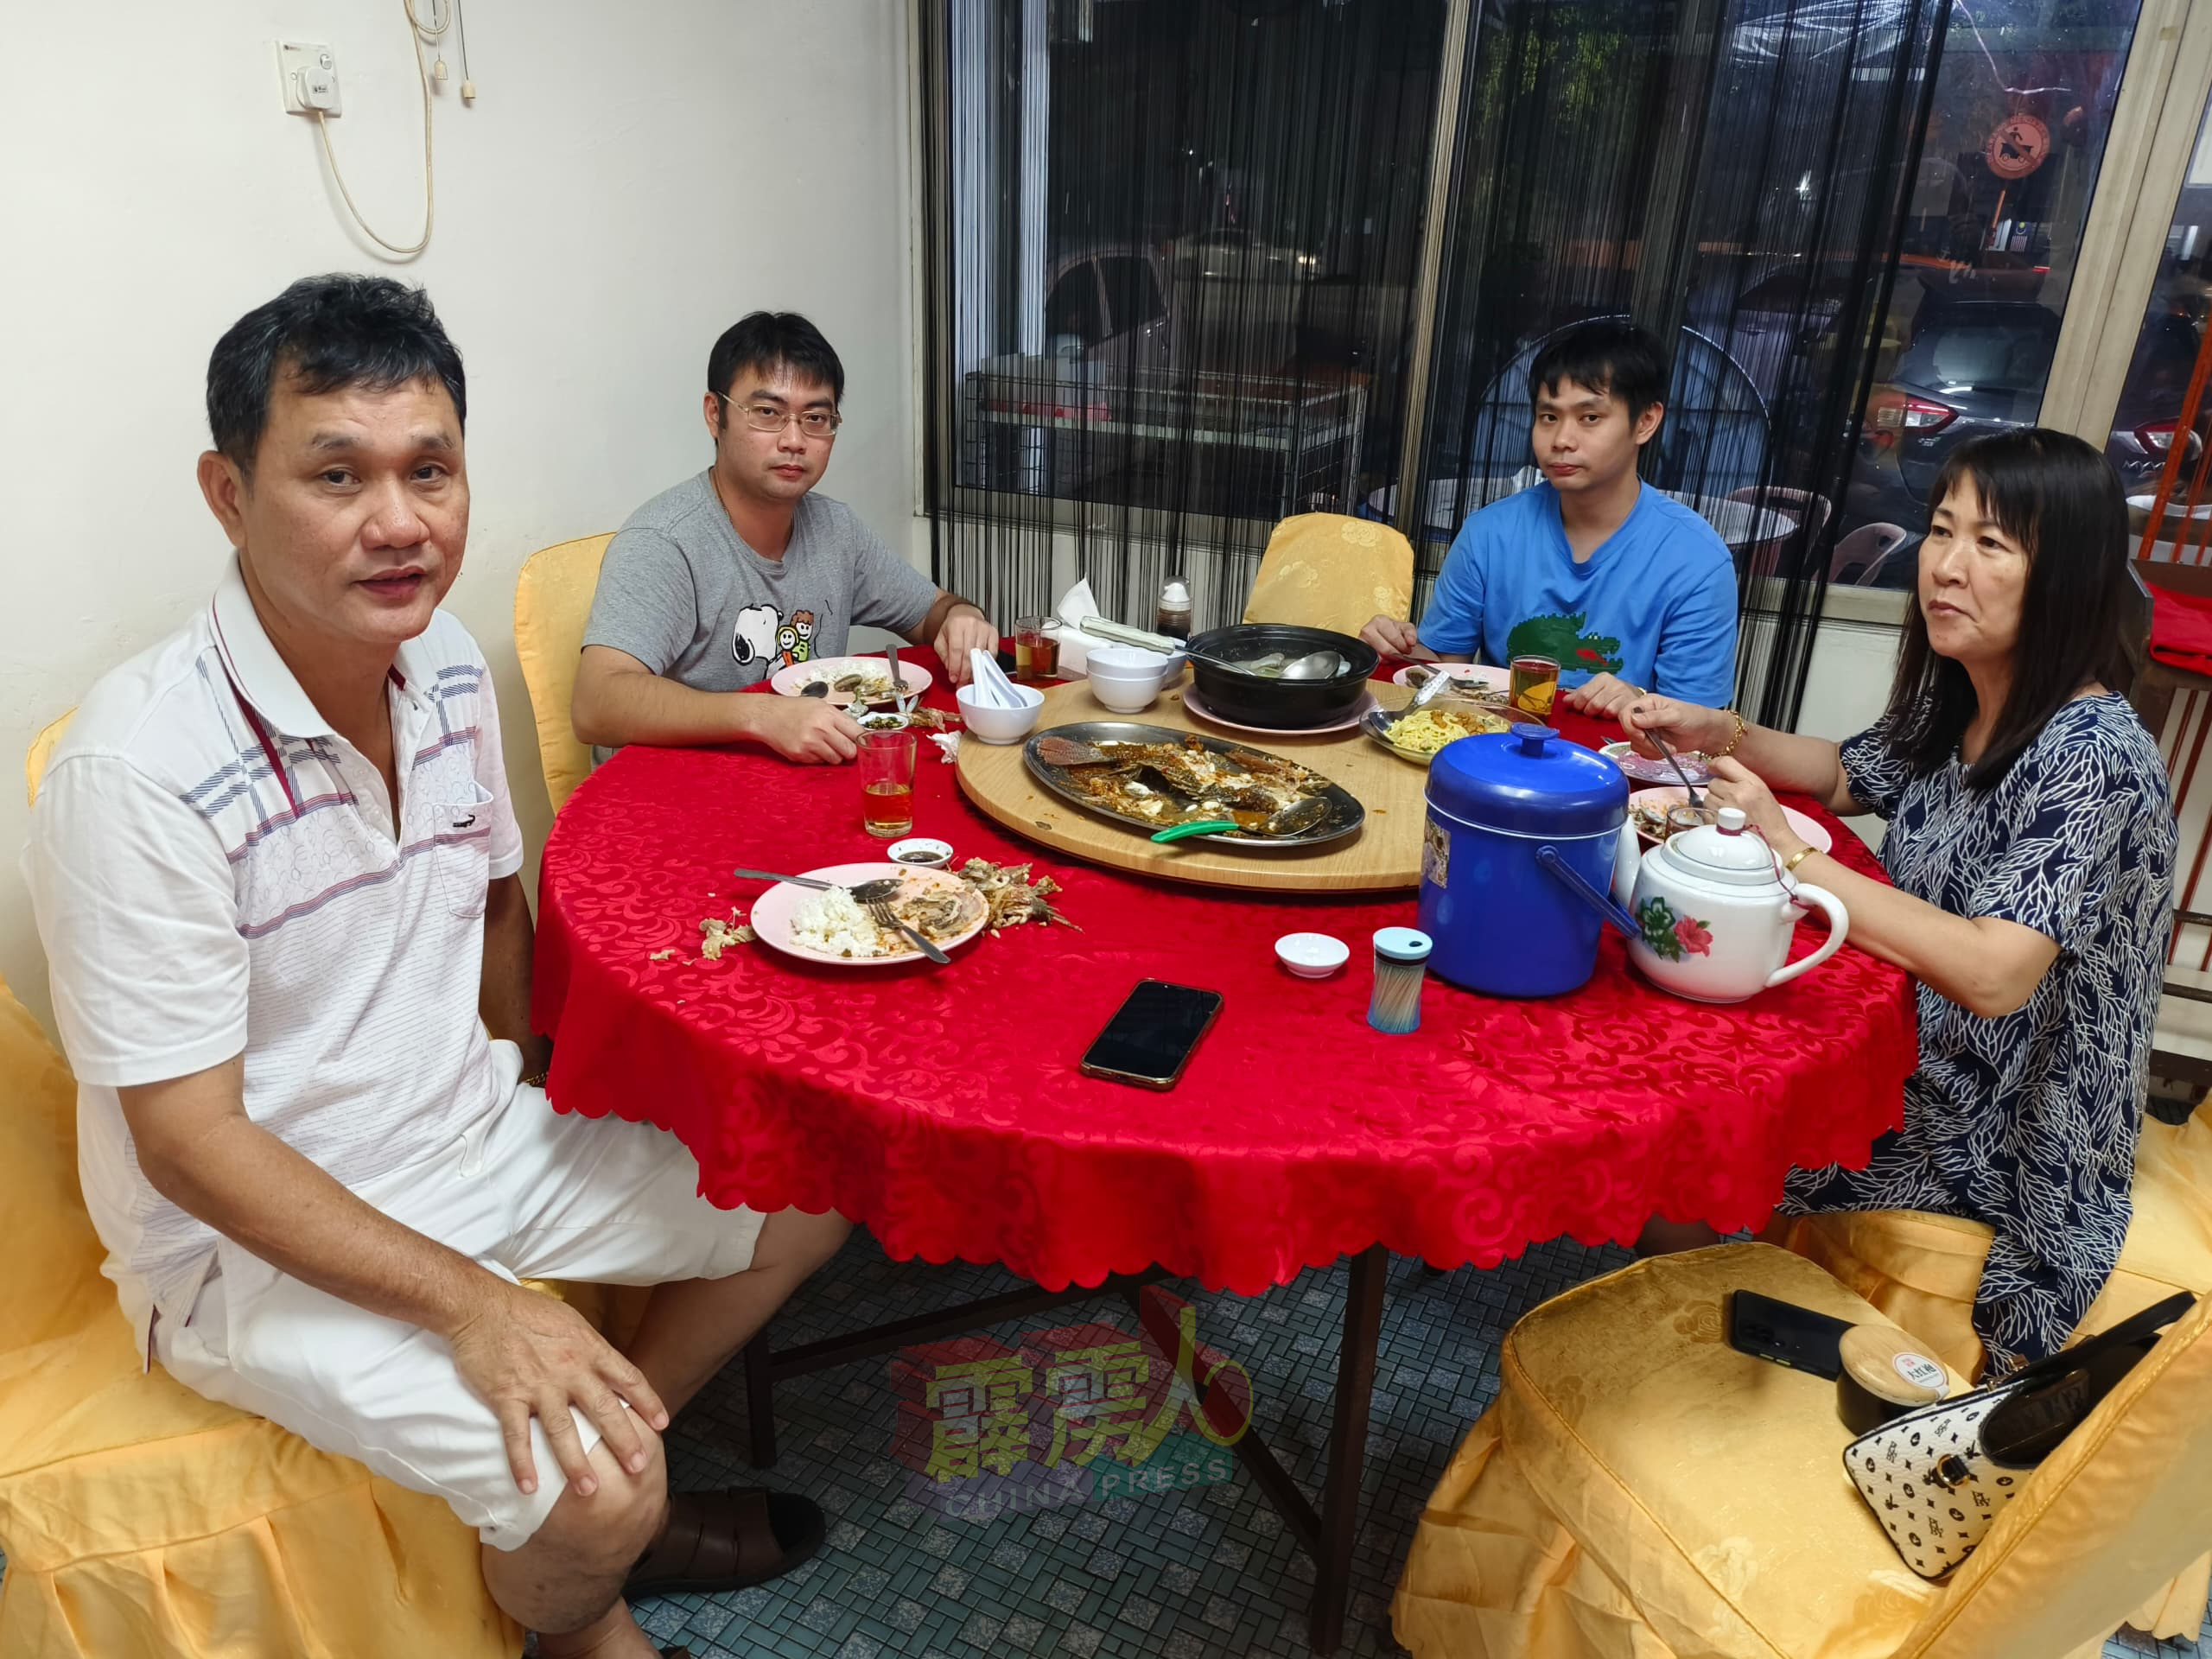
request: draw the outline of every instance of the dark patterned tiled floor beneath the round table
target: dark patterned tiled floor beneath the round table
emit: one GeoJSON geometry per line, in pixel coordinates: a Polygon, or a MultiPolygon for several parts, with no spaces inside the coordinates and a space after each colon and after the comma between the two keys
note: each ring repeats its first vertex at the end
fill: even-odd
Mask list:
{"type": "MultiPolygon", "coordinates": [[[[1498,1389],[1498,1338],[1546,1296],[1626,1261],[1553,1243],[1495,1272],[1427,1276],[1394,1261],[1383,1318],[1363,1531],[1345,1655],[1394,1655],[1389,1593],[1420,1504],[1467,1422],[1498,1389]]],[[[860,1329],[1011,1287],[995,1270],[887,1263],[856,1234],[779,1321],[783,1345],[860,1329]]],[[[1199,1338],[1259,1378],[1256,1427],[1316,1495],[1343,1318],[1343,1272],[1307,1272],[1259,1298],[1188,1285],[1199,1338]]],[[[993,1332],[1097,1318],[1130,1325],[1113,1301],[1084,1303],[993,1332]]],[[[776,1394],[783,1458],[774,1484],[830,1511],[823,1553],[790,1577],[730,1597],[668,1597],[639,1608],[664,1641],[708,1655],[969,1659],[971,1655],[1115,1655],[1245,1659],[1305,1655],[1312,1566],[1239,1471],[1181,1493],[1110,1498],[951,1520],[914,1502],[891,1455],[900,1394],[885,1360],[787,1383],[776,1394]]],[[[743,1385],[732,1369],[670,1440],[677,1486],[748,1480],[743,1385]]],[[[2112,1641],[2108,1659],[2212,1659],[2177,1644],[2112,1641]]],[[[2022,1655],[2042,1659],[2042,1655],[2022,1655]]]]}

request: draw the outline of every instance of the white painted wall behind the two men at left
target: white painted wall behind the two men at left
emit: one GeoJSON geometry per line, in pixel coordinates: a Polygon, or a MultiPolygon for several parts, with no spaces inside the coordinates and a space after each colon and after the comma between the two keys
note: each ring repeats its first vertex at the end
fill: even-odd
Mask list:
{"type": "MultiPolygon", "coordinates": [[[[429,0],[418,0],[429,15],[429,0]]],[[[706,354],[752,307],[836,343],[827,489],[894,546],[914,511],[907,15],[898,0],[467,0],[436,104],[438,230],[403,265],[469,369],[469,560],[524,834],[546,830],[515,571],[706,462],[706,354]]],[[[192,465],[215,338],[294,276],[389,270],[349,234],[272,42],[338,53],[332,142],[392,241],[420,223],[400,0],[13,7],[0,53],[0,754],[201,604],[226,555],[192,465]]],[[[920,540],[927,549],[927,538],[920,540]]],[[[13,761],[9,763],[13,768],[13,761]]],[[[0,973],[46,975],[0,783],[0,973]]]]}

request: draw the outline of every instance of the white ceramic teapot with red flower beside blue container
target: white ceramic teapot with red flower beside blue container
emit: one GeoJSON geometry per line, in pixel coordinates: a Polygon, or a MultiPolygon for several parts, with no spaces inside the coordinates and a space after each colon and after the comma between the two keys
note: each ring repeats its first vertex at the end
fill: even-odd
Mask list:
{"type": "Polygon", "coordinates": [[[1637,936],[1628,960],[1661,991],[1692,1002],[1743,1002],[1812,973],[1843,949],[1851,916],[1825,887],[1794,894],[1774,872],[1765,838],[1745,832],[1739,807],[1644,854],[1628,900],[1637,936]],[[1790,938],[1809,909],[1827,911],[1827,942],[1790,962],[1790,938]]]}

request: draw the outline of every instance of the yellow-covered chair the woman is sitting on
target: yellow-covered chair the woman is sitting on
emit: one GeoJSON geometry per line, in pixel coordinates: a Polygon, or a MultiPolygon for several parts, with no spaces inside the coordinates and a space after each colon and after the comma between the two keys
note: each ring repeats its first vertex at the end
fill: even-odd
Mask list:
{"type": "MultiPolygon", "coordinates": [[[[1918,1210],[1794,1217],[1778,1234],[1778,1243],[1820,1263],[1962,1376],[1982,1369],[1973,1296],[1989,1239],[1980,1221],[1918,1210]]],[[[2177,1290],[2212,1296],[2212,1117],[2205,1113],[2183,1124],[2143,1119],[2128,1243],[2110,1283],[2081,1316],[2079,1334],[2110,1329],[2177,1290]]],[[[2154,1637],[2197,1641],[2208,1593],[2212,1555],[2139,1606],[2128,1624],[2154,1637]]]]}

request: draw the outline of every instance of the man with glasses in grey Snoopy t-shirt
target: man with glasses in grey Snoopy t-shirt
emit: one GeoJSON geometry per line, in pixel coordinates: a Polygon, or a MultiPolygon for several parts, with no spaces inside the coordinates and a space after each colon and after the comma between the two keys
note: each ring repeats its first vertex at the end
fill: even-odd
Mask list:
{"type": "Polygon", "coordinates": [[[730,692],[843,655],[854,624],[933,646],[953,684],[969,648],[998,648],[980,608],[810,493],[843,396],[845,369],[803,316],[754,312],[714,341],[714,465],[630,513],[599,566],[568,706],[595,759],[622,743],[754,739],[792,761],[847,761],[860,728],[843,710],[730,692]]]}

